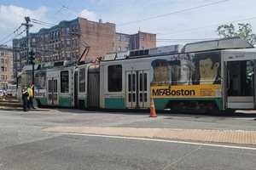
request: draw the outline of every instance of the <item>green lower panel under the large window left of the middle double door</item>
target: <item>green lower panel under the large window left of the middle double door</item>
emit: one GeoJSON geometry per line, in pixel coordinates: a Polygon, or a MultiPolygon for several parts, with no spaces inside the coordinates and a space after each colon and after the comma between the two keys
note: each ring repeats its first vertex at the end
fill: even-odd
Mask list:
{"type": "Polygon", "coordinates": [[[125,109],[124,98],[106,98],[105,109],[125,109]]]}

